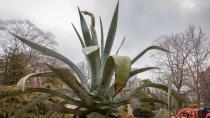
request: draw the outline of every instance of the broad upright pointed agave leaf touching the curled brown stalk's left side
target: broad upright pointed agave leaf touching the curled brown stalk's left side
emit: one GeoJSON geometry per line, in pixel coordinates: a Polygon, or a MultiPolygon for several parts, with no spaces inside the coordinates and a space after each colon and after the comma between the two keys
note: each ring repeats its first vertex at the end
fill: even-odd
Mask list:
{"type": "Polygon", "coordinates": [[[93,42],[90,36],[90,32],[87,26],[87,23],[80,11],[80,9],[78,8],[79,11],[79,16],[80,16],[80,24],[81,24],[81,29],[82,29],[82,34],[83,34],[83,38],[85,41],[86,46],[92,46],[93,42]]]}

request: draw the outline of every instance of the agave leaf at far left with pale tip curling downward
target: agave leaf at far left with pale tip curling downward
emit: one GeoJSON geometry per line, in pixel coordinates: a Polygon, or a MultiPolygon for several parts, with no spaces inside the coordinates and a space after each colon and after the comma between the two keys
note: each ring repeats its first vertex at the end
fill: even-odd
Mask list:
{"type": "Polygon", "coordinates": [[[37,73],[32,73],[32,74],[29,74],[23,78],[21,78],[18,82],[17,82],[17,88],[19,88],[20,90],[24,91],[25,89],[25,84],[26,84],[26,81],[32,77],[52,77],[52,76],[55,76],[53,75],[53,72],[51,71],[47,71],[47,72],[37,72],[37,73]]]}

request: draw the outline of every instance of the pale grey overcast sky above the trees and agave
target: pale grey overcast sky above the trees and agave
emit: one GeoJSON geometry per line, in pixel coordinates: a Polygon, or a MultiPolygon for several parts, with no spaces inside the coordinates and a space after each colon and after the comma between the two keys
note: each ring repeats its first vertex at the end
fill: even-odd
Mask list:
{"type": "MultiPolygon", "coordinates": [[[[84,60],[81,46],[71,23],[79,29],[77,6],[95,14],[104,22],[105,34],[116,0],[0,0],[0,19],[28,19],[44,31],[50,31],[58,42],[58,51],[74,62],[84,60]]],[[[123,36],[120,55],[131,58],[153,44],[159,36],[181,32],[189,24],[201,26],[210,34],[210,0],[120,0],[119,22],[113,52],[123,36]]],[[[97,27],[98,32],[100,30],[97,27]]],[[[150,65],[148,55],[135,66],[150,65]],[[146,64],[145,64],[146,62],[146,64]]]]}

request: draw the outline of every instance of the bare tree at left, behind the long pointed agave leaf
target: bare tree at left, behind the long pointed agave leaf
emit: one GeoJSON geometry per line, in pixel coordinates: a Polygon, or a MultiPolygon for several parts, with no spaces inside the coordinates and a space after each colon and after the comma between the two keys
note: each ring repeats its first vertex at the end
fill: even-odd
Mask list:
{"type": "MultiPolygon", "coordinates": [[[[4,59],[4,78],[8,75],[9,57],[12,55],[18,55],[24,53],[26,55],[27,66],[31,68],[31,71],[37,71],[40,69],[40,56],[39,53],[28,48],[26,45],[18,41],[15,37],[10,35],[12,32],[26,39],[30,39],[36,43],[44,46],[55,48],[56,42],[54,36],[50,32],[44,32],[36,27],[28,20],[12,19],[6,21],[0,21],[0,45],[1,56],[4,59]]],[[[45,58],[46,59],[46,58],[45,58]]]]}

